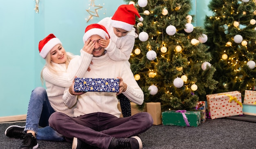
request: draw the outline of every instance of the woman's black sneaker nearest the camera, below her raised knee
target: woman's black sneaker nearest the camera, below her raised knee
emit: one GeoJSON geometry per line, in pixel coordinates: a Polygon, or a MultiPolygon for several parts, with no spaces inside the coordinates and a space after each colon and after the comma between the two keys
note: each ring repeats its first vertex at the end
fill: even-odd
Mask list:
{"type": "Polygon", "coordinates": [[[36,138],[32,135],[32,133],[26,133],[19,149],[36,149],[37,147],[38,143],[36,138]]]}

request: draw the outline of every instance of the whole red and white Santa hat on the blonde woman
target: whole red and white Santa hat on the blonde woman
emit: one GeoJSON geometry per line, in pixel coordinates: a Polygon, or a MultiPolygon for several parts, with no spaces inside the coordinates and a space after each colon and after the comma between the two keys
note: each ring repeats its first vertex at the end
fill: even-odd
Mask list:
{"type": "Polygon", "coordinates": [[[56,46],[57,44],[62,45],[61,40],[56,38],[56,36],[54,36],[53,33],[50,33],[43,40],[41,40],[38,44],[38,49],[39,49],[40,56],[42,58],[45,58],[47,56],[47,54],[49,53],[49,51],[51,51],[51,49],[54,46],[56,46]]]}

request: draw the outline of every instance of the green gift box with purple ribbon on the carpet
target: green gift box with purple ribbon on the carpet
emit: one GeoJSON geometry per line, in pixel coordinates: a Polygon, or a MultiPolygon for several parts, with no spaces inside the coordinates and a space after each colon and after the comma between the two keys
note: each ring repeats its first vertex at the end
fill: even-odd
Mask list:
{"type": "Polygon", "coordinates": [[[163,125],[198,127],[201,123],[200,111],[171,110],[162,112],[163,125]]]}

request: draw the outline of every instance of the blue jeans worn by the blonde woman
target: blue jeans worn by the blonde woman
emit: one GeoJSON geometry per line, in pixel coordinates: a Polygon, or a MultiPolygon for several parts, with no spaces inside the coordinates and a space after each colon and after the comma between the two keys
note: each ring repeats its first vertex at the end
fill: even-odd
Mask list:
{"type": "Polygon", "coordinates": [[[65,138],[49,127],[49,117],[54,113],[47,92],[43,87],[36,87],[30,96],[24,131],[34,131],[38,140],[63,141],[65,138]],[[39,128],[40,126],[40,128],[39,128]]]}

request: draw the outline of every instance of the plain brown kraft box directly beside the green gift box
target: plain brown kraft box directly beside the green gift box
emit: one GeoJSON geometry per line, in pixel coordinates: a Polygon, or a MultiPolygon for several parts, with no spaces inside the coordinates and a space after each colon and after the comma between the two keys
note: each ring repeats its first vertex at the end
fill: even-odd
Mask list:
{"type": "Polygon", "coordinates": [[[147,102],[147,112],[150,113],[153,118],[153,125],[162,124],[162,111],[160,102],[147,102]]]}

